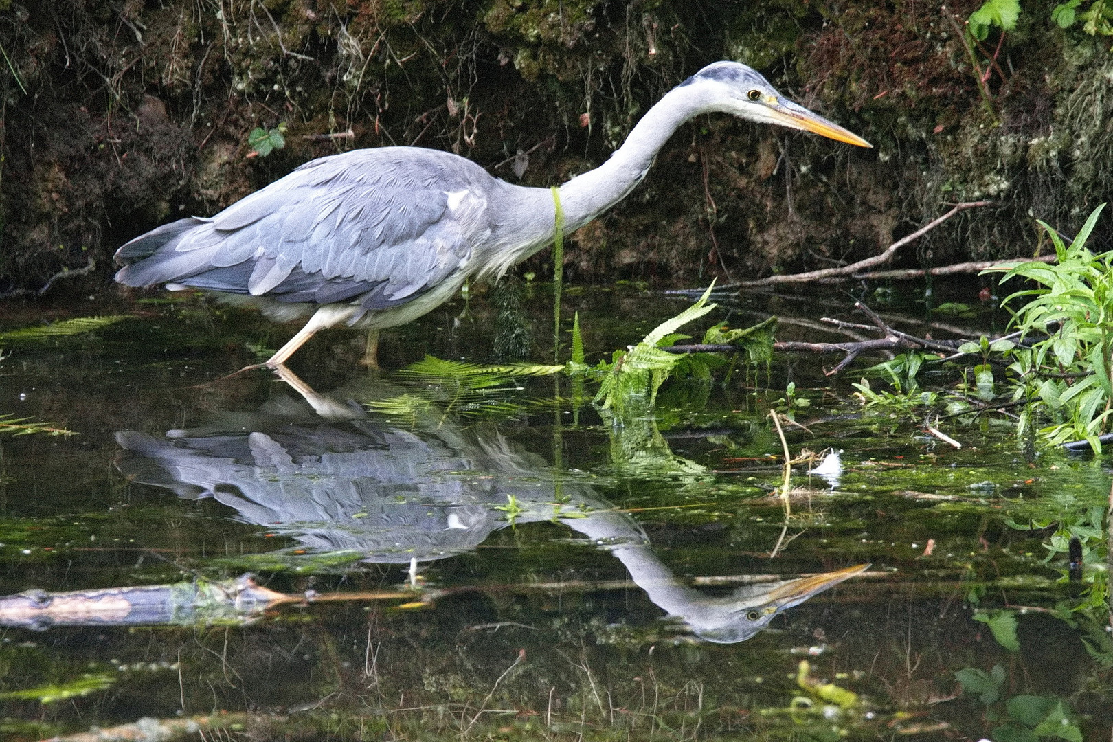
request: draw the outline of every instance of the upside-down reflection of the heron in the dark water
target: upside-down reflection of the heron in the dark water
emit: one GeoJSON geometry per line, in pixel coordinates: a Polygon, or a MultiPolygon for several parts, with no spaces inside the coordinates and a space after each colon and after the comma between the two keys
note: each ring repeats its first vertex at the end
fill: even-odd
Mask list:
{"type": "Polygon", "coordinates": [[[215,498],[237,520],[290,536],[303,548],[349,551],[375,563],[415,565],[475,548],[508,525],[496,507],[512,496],[521,509],[515,523],[555,520],[604,545],[653,603],[718,643],[749,639],[780,612],[866,568],[709,596],[681,583],[638,524],[587,484],[562,479],[562,504],[554,506],[556,479],[544,461],[498,433],[447,425],[406,431],[336,395],[304,385],[299,390],[334,421],[348,419],[324,422],[287,398],[229,416],[224,425],[170,431],[165,439],[122,432],[117,439],[127,451],[119,467],[180,497],[215,498]]]}

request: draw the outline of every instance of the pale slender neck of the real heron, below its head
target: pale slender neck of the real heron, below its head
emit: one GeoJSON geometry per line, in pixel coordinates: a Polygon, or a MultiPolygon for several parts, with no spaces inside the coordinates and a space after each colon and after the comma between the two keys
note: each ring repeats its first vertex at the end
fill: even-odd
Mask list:
{"type": "Polygon", "coordinates": [[[699,113],[702,101],[688,87],[674,88],[638,121],[626,144],[594,170],[589,170],[560,188],[567,231],[591,221],[621,201],[641,182],[658,150],[680,126],[699,113]]]}

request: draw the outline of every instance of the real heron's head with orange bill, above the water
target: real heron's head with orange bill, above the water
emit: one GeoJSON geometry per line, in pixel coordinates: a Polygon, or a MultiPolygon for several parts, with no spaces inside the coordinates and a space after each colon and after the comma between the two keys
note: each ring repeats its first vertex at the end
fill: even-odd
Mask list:
{"type": "Polygon", "coordinates": [[[684,80],[680,87],[698,86],[708,110],[733,113],[762,123],[804,129],[858,147],[873,147],[861,137],[794,103],[752,68],[738,62],[715,62],[684,80]]]}

